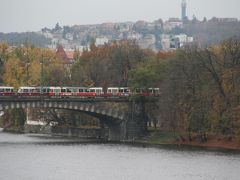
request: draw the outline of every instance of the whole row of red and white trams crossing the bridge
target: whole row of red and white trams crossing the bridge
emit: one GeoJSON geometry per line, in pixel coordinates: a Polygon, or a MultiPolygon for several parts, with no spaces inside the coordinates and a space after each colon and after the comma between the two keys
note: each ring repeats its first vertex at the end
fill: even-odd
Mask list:
{"type": "Polygon", "coordinates": [[[92,97],[128,97],[128,96],[160,96],[159,88],[136,88],[132,92],[128,87],[108,87],[106,94],[102,87],[55,87],[55,86],[22,86],[14,92],[10,86],[0,86],[1,96],[45,96],[45,97],[72,97],[72,98],[92,98],[92,97]]]}

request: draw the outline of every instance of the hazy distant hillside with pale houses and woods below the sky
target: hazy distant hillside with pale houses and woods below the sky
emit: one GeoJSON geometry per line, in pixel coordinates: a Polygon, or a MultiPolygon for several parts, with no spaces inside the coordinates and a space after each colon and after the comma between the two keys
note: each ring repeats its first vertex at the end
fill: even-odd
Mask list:
{"type": "MultiPolygon", "coordinates": [[[[126,40],[133,39],[133,35],[138,34],[140,39],[146,35],[154,35],[156,38],[156,49],[161,49],[161,35],[168,34],[179,35],[181,33],[192,36],[194,41],[202,46],[208,46],[216,43],[220,43],[223,40],[227,40],[233,36],[240,35],[240,22],[239,21],[227,21],[218,20],[212,18],[209,21],[198,21],[193,19],[183,23],[183,26],[178,26],[172,30],[164,29],[164,22],[159,19],[154,22],[123,22],[123,23],[102,23],[95,25],[75,25],[75,26],[63,26],[58,23],[52,29],[43,28],[42,33],[50,33],[46,37],[53,36],[53,39],[46,38],[43,34],[36,32],[23,32],[23,33],[0,33],[0,42],[7,42],[11,45],[20,45],[24,43],[31,43],[37,47],[48,47],[49,45],[55,46],[56,40],[59,43],[68,42],[69,45],[89,45],[96,37],[108,37],[109,40],[114,41],[116,39],[126,40]],[[151,25],[149,27],[149,25],[151,25]],[[153,26],[153,27],[152,27],[153,26]],[[66,36],[72,35],[72,40],[66,36]],[[51,42],[54,40],[54,42],[51,42]]],[[[138,39],[138,37],[135,37],[138,39]]],[[[136,39],[136,40],[137,40],[136,39]]],[[[144,41],[145,42],[145,41],[144,41]]]]}

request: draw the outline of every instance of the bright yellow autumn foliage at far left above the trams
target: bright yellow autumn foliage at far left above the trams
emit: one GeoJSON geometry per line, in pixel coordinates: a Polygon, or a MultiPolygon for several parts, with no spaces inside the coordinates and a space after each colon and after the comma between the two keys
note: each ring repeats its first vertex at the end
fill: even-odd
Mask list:
{"type": "MultiPolygon", "coordinates": [[[[0,44],[1,56],[7,48],[9,48],[7,44],[0,44]]],[[[55,52],[31,46],[18,47],[8,52],[2,74],[4,84],[14,87],[40,85],[42,58],[44,67],[48,67],[56,59],[55,52]]]]}

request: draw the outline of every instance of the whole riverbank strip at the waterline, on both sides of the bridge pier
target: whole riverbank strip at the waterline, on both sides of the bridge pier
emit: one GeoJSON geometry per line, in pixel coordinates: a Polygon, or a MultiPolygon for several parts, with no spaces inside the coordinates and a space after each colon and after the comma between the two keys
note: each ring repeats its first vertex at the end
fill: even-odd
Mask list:
{"type": "MultiPolygon", "coordinates": [[[[11,128],[4,128],[2,131],[15,133],[15,134],[22,134],[22,133],[42,133],[46,134],[46,132],[41,131],[26,131],[23,127],[11,127],[11,128]]],[[[91,130],[86,129],[67,129],[61,128],[61,131],[59,129],[53,130],[52,133],[48,132],[47,134],[52,135],[59,135],[63,137],[81,137],[81,138],[96,138],[99,141],[99,137],[105,137],[104,142],[106,142],[106,132],[101,134],[100,132],[92,132],[91,130]],[[69,131],[71,130],[71,131],[69,131]],[[76,132],[75,132],[76,131],[76,132]],[[91,131],[91,132],[88,132],[91,131]],[[86,134],[85,136],[83,134],[86,134]]],[[[125,141],[126,142],[126,141],[125,141]]],[[[177,145],[177,146],[190,146],[190,147],[202,147],[202,148],[212,148],[212,149],[223,149],[223,150],[235,150],[240,151],[240,139],[233,138],[233,137],[227,137],[227,136],[208,136],[206,141],[201,141],[199,138],[193,138],[193,140],[189,141],[188,138],[177,138],[170,132],[163,132],[163,131],[149,131],[149,133],[135,141],[131,141],[131,144],[142,144],[142,145],[148,145],[148,146],[158,146],[158,145],[177,145]]]]}

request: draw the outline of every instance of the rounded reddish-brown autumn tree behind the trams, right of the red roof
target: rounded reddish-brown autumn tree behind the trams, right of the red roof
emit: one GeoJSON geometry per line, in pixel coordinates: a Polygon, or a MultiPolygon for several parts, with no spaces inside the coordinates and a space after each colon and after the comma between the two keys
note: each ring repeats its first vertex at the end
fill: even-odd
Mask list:
{"type": "Polygon", "coordinates": [[[130,71],[143,62],[147,54],[135,42],[120,41],[83,52],[73,65],[74,84],[93,86],[127,86],[130,71]]]}

